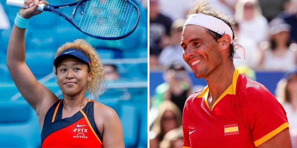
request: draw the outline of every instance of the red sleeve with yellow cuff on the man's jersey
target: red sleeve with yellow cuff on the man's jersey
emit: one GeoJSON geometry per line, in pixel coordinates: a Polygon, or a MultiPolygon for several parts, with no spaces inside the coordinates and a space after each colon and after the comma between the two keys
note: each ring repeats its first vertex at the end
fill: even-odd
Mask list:
{"type": "Polygon", "coordinates": [[[251,130],[256,147],[288,127],[284,108],[262,84],[252,82],[238,94],[243,122],[251,130]]]}

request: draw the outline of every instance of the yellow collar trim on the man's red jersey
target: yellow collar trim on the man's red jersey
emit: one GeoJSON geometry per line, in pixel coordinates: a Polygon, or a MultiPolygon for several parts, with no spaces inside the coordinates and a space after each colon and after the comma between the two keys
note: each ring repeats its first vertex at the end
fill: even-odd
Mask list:
{"type": "MultiPolygon", "coordinates": [[[[239,76],[238,69],[235,69],[234,72],[233,72],[232,84],[223,92],[223,94],[221,96],[219,96],[219,98],[217,99],[217,101],[214,102],[214,105],[212,106],[212,109],[227,94],[231,94],[231,95],[232,94],[235,94],[236,83],[237,83],[238,76],[239,76]]],[[[204,90],[202,91],[202,93],[197,96],[197,98],[204,97],[204,102],[207,105],[207,107],[209,108],[209,105],[208,105],[208,102],[207,102],[208,93],[209,93],[209,88],[208,88],[208,85],[207,85],[204,88],[204,90]]],[[[209,108],[209,110],[212,110],[212,109],[209,108]]]]}

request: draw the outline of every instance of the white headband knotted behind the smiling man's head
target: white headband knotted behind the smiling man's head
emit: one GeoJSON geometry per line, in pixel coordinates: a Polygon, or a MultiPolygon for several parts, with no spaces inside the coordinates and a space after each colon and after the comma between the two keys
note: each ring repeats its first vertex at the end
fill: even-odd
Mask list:
{"type": "MultiPolygon", "coordinates": [[[[216,33],[219,33],[220,35],[228,34],[231,38],[230,43],[232,44],[233,48],[239,49],[239,51],[241,52],[241,54],[245,59],[244,48],[240,44],[233,42],[233,32],[231,28],[224,21],[210,15],[204,15],[204,14],[198,13],[198,14],[190,15],[186,23],[184,24],[184,26],[185,25],[198,25],[198,26],[207,28],[209,30],[212,30],[216,33]]],[[[241,59],[241,57],[236,53],[236,51],[234,52],[234,58],[241,59]]]]}

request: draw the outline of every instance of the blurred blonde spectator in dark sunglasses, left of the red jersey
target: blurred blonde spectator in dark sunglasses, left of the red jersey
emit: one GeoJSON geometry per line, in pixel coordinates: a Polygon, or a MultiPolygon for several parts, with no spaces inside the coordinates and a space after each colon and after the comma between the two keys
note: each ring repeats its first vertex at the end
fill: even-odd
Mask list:
{"type": "Polygon", "coordinates": [[[157,119],[150,132],[150,148],[159,148],[160,142],[169,131],[181,126],[181,111],[171,101],[164,101],[159,106],[157,119]]]}

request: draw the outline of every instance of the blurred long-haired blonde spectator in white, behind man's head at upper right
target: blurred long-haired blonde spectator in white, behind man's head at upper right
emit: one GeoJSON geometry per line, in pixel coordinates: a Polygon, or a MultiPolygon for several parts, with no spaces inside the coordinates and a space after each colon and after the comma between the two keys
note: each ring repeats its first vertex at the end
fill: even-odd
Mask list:
{"type": "Polygon", "coordinates": [[[263,17],[257,0],[238,0],[235,20],[240,25],[238,36],[241,38],[252,39],[257,44],[267,40],[268,21],[263,17]]]}

